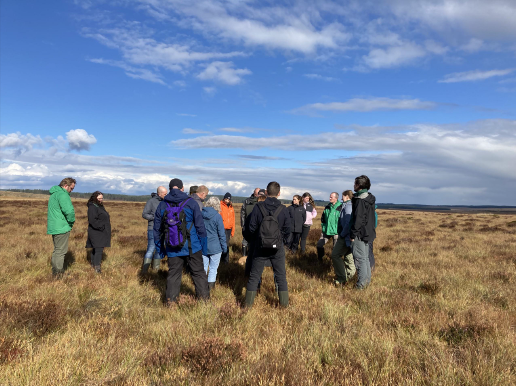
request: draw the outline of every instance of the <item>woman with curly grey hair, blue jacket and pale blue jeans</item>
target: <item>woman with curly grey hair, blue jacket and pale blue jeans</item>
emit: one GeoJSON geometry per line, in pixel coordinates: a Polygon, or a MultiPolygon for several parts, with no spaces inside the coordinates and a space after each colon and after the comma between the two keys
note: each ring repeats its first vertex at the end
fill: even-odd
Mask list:
{"type": "Polygon", "coordinates": [[[220,258],[223,252],[228,251],[228,244],[225,239],[224,221],[222,220],[220,211],[220,199],[217,197],[210,197],[204,204],[202,210],[204,226],[208,234],[208,253],[203,255],[202,258],[204,260],[204,270],[208,275],[209,290],[215,288],[220,258]]]}

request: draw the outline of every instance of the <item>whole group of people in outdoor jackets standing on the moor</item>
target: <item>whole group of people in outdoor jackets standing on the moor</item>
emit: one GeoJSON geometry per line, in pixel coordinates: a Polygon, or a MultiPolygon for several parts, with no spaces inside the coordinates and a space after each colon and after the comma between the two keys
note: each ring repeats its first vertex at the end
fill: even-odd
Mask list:
{"type": "MultiPolygon", "coordinates": [[[[63,272],[70,231],[75,222],[70,198],[75,184],[75,179],[65,178],[50,191],[48,233],[54,240],[52,270],[55,275],[63,272]]],[[[179,178],[170,181],[169,189],[160,186],[142,213],[149,222],[142,273],[148,273],[151,265],[154,270],[159,269],[161,260],[167,257],[167,301],[177,301],[185,265],[197,297],[209,299],[220,263],[229,263],[230,240],[235,235],[232,195],[226,193],[222,201],[215,196],[206,199],[209,189],[204,185],[191,187],[187,194],[179,178]]],[[[331,193],[330,204],[322,213],[317,253],[322,260],[325,244],[333,240],[331,257],[336,285],[348,283],[355,273],[358,274],[357,288],[363,289],[370,284],[375,267],[373,241],[377,215],[376,198],[369,190],[369,178],[357,177],[354,192],[344,191],[342,202],[338,200],[338,193],[331,193]]],[[[305,253],[310,229],[317,217],[310,193],[295,195],[288,207],[281,203],[280,195],[280,184],[272,181],[266,189],[256,188],[241,208],[242,251],[249,277],[248,307],[254,303],[266,266],[273,269],[280,304],[288,306],[285,251],[297,254],[300,248],[300,253],[305,253]]],[[[91,248],[91,266],[98,273],[102,272],[103,250],[111,245],[110,217],[103,199],[103,194],[97,191],[88,201],[86,248],[91,248]]]]}

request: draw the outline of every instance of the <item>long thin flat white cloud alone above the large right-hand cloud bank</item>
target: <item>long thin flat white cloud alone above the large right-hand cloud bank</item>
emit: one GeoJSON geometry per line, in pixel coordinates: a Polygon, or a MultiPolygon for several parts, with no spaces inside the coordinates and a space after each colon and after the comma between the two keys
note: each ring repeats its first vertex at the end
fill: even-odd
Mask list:
{"type": "Polygon", "coordinates": [[[392,98],[353,98],[346,102],[329,102],[307,104],[291,110],[294,114],[313,115],[317,111],[392,111],[392,110],[431,110],[437,103],[420,99],[392,99],[392,98]]]}

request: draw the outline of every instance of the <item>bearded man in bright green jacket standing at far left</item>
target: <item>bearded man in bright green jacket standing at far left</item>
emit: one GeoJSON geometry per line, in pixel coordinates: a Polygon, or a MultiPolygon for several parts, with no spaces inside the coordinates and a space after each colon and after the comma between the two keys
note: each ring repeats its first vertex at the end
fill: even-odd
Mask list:
{"type": "Polygon", "coordinates": [[[47,235],[52,235],[52,274],[55,277],[65,272],[65,256],[68,253],[70,232],[75,223],[75,209],[70,193],[77,181],[72,177],[63,179],[59,185],[50,189],[49,211],[47,214],[47,235]]]}

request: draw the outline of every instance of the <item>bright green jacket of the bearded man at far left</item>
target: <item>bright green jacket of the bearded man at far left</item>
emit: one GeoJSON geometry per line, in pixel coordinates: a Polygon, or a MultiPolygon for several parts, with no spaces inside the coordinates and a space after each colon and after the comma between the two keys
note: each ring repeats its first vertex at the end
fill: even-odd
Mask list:
{"type": "Polygon", "coordinates": [[[49,199],[49,217],[47,221],[48,235],[62,235],[72,230],[75,223],[70,193],[59,185],[52,187],[49,199]]]}

